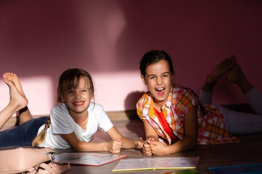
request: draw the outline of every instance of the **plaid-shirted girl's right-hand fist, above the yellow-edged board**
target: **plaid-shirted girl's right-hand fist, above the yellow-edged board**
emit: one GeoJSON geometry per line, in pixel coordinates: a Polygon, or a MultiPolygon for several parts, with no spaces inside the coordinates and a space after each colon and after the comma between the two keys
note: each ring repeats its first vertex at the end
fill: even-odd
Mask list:
{"type": "Polygon", "coordinates": [[[148,140],[147,141],[150,149],[151,149],[151,153],[154,155],[169,155],[169,146],[164,145],[163,143],[160,143],[159,141],[154,141],[154,140],[148,140]]]}

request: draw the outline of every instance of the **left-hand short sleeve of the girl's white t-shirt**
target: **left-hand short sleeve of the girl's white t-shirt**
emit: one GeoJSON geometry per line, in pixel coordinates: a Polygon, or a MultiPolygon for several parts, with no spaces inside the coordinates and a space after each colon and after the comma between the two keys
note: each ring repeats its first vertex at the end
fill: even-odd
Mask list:
{"type": "Polygon", "coordinates": [[[50,113],[51,128],[54,134],[70,134],[73,132],[68,119],[72,119],[64,103],[56,104],[50,113]]]}

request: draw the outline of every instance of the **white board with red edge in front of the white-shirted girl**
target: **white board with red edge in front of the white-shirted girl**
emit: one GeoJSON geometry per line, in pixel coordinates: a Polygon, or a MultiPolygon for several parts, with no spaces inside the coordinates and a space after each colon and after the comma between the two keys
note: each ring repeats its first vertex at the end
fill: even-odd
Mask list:
{"type": "Polygon", "coordinates": [[[101,166],[125,157],[127,157],[127,155],[100,153],[61,153],[54,156],[54,162],[59,164],[70,163],[77,165],[101,166]]]}

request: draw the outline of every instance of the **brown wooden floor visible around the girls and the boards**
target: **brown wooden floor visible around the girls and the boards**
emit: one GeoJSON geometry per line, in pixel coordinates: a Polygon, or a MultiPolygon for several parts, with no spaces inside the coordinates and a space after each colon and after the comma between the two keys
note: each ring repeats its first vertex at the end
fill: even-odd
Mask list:
{"type": "MultiPolygon", "coordinates": [[[[113,121],[119,132],[128,137],[137,139],[144,136],[144,128],[140,120],[115,120],[113,121]]],[[[262,163],[262,133],[238,136],[241,143],[221,145],[201,145],[182,153],[167,156],[146,157],[136,149],[122,150],[120,154],[128,155],[125,159],[136,158],[158,158],[158,157],[200,157],[197,171],[203,174],[210,174],[208,168],[229,165],[245,165],[262,163]]],[[[110,141],[106,134],[99,130],[92,140],[93,142],[110,141]]],[[[62,152],[74,152],[72,149],[55,150],[57,154],[62,152]]],[[[107,153],[107,152],[101,152],[107,153]]],[[[103,166],[81,166],[72,165],[71,171],[66,174],[164,174],[175,170],[146,170],[129,172],[111,172],[119,161],[103,166]]],[[[175,174],[175,173],[174,173],[175,174]]]]}

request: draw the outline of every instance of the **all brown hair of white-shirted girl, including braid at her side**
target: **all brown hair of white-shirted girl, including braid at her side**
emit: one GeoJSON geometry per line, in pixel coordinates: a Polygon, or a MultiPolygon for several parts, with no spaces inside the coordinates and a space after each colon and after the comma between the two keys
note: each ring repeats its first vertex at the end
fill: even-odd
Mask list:
{"type": "MultiPolygon", "coordinates": [[[[89,93],[91,98],[94,97],[94,85],[93,80],[89,73],[80,68],[68,69],[64,71],[58,81],[57,87],[57,102],[62,102],[62,97],[70,89],[75,89],[79,86],[80,79],[83,78],[89,83],[89,93]]],[[[50,118],[46,121],[44,129],[34,138],[32,146],[39,146],[44,142],[46,137],[46,130],[50,127],[50,118]]]]}

